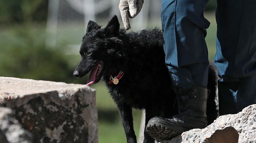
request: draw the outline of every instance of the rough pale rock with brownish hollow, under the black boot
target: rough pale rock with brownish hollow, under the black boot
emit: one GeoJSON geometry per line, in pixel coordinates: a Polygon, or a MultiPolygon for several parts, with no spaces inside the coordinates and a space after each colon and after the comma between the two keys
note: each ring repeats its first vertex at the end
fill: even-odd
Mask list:
{"type": "Polygon", "coordinates": [[[161,143],[256,143],[256,104],[223,115],[204,129],[192,129],[161,143]]]}

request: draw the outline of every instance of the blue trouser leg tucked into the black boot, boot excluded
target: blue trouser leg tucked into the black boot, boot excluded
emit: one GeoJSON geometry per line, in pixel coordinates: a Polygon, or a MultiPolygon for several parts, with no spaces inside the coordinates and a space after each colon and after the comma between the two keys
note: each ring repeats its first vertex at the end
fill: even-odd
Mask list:
{"type": "Polygon", "coordinates": [[[183,89],[207,86],[209,62],[204,39],[210,25],[204,18],[207,2],[162,0],[165,62],[173,84],[183,89]]]}

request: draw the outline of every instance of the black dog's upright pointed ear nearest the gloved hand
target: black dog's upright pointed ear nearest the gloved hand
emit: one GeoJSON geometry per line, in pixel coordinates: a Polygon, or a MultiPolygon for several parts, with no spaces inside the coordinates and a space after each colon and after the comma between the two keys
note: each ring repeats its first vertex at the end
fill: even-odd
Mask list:
{"type": "Polygon", "coordinates": [[[108,25],[105,27],[105,31],[108,36],[117,36],[119,34],[120,24],[117,16],[113,16],[113,18],[108,22],[108,25]]]}

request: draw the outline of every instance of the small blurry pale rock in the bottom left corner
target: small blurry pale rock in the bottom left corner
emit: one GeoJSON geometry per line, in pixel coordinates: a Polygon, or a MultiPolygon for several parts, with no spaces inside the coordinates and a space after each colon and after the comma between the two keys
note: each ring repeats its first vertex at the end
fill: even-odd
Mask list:
{"type": "Polygon", "coordinates": [[[0,143],[32,143],[32,134],[21,127],[6,107],[0,107],[0,143]]]}

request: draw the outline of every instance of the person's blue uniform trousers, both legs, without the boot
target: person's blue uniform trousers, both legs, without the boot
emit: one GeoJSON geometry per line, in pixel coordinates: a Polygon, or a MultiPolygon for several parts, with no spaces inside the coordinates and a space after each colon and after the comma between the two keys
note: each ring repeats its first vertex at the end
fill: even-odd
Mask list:
{"type": "MultiPolygon", "coordinates": [[[[173,84],[184,89],[207,86],[209,62],[204,39],[210,25],[204,18],[207,2],[162,0],[165,63],[173,84]]],[[[223,114],[235,113],[256,103],[253,80],[256,76],[256,1],[217,0],[216,20],[214,63],[221,78],[219,110],[223,114]],[[231,107],[236,107],[234,112],[231,107]]]]}

